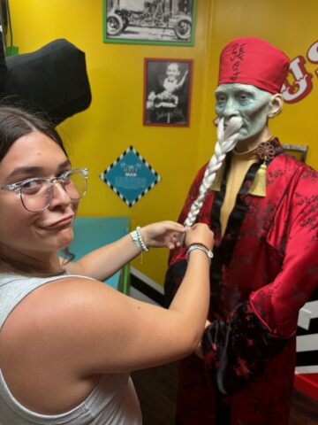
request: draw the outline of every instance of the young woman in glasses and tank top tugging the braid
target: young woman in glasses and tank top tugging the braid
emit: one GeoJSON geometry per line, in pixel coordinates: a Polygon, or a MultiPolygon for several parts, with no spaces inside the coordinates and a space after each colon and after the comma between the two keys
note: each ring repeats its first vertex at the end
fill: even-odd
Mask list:
{"type": "Polygon", "coordinates": [[[72,243],[86,182],[47,120],[0,106],[1,424],[140,424],[129,373],[182,358],[201,339],[213,233],[163,221],[66,262],[58,252],[72,243]],[[188,267],[169,310],[101,282],[184,233],[188,267]]]}

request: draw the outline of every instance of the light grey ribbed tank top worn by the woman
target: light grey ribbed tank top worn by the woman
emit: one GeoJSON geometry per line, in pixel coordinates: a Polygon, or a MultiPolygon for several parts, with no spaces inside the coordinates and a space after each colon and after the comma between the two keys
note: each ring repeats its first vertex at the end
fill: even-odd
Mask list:
{"type": "MultiPolygon", "coordinates": [[[[0,330],[19,302],[44,283],[72,274],[54,277],[27,277],[0,274],[0,330]]],[[[46,415],[28,410],[12,396],[0,368],[0,425],[141,425],[140,404],[128,374],[102,375],[92,393],[71,411],[46,415]]]]}

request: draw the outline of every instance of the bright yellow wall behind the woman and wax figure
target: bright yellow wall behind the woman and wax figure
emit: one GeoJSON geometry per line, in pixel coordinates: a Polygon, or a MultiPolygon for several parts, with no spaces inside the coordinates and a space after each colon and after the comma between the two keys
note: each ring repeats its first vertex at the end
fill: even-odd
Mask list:
{"type": "MultiPolygon", "coordinates": [[[[307,0],[198,0],[194,47],[102,42],[102,1],[10,0],[14,44],[20,53],[66,38],[87,55],[93,102],[59,126],[73,165],[88,166],[89,193],[79,215],[130,216],[132,227],[155,220],[176,220],[199,166],[213,153],[213,120],[218,55],[231,38],[267,39],[292,59],[306,58],[317,40],[318,3],[307,0]],[[143,59],[190,58],[194,61],[189,128],[142,125],[143,59]],[[129,208],[99,174],[133,145],[163,178],[129,208]]],[[[306,64],[313,89],[303,100],[285,104],[272,129],[282,143],[308,144],[307,163],[318,168],[318,64],[306,64]]],[[[168,252],[152,250],[133,266],[163,283],[168,252]]]]}

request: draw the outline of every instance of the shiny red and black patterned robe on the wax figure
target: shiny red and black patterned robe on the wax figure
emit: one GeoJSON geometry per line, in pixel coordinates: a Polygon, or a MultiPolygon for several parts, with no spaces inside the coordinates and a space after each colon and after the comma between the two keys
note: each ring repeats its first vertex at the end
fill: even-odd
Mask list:
{"type": "MultiPolygon", "coordinates": [[[[224,235],[221,190],[209,190],[197,218],[215,232],[211,296],[202,347],[180,362],[177,423],[181,425],[287,425],[295,367],[299,309],[318,282],[318,174],[272,141],[267,195],[248,194],[260,163],[239,189],[224,235]]],[[[197,174],[179,221],[198,195],[197,174]]],[[[171,251],[167,304],[186,270],[186,248],[171,251]]],[[[195,282],[193,282],[195,284],[195,282]]],[[[186,329],[185,329],[186,332],[186,329]]]]}

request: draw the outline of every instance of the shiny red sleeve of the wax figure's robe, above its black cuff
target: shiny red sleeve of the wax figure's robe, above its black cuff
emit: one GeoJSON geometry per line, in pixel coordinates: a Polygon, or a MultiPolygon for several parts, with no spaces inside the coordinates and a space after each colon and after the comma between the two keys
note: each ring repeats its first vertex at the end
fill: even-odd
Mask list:
{"type": "Polygon", "coordinates": [[[274,282],[250,296],[261,321],[272,334],[283,338],[295,334],[299,309],[318,285],[318,195],[306,195],[304,185],[309,183],[304,180],[294,192],[281,272],[274,282]]]}

